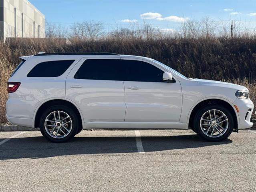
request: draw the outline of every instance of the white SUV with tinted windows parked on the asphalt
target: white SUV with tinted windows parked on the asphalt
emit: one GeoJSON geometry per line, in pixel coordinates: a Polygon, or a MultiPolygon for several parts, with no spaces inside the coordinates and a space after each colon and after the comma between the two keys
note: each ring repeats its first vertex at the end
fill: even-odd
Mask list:
{"type": "Polygon", "coordinates": [[[52,142],[97,128],[191,128],[205,140],[220,141],[253,125],[247,88],[186,78],[150,58],[112,53],[20,58],[8,81],[7,119],[40,127],[52,142]]]}

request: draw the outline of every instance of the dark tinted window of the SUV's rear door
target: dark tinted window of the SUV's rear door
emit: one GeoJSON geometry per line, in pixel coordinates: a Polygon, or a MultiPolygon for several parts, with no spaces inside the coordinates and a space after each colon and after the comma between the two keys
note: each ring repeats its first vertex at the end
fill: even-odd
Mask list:
{"type": "Polygon", "coordinates": [[[119,59],[87,59],[74,78],[123,81],[123,75],[119,59]]]}

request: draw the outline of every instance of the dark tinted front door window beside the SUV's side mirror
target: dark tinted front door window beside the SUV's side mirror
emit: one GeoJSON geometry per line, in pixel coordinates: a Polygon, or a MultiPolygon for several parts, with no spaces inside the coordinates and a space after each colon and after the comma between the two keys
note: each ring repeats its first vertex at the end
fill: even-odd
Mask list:
{"type": "Polygon", "coordinates": [[[137,60],[121,60],[126,66],[126,81],[163,82],[163,71],[147,62],[137,60]]]}

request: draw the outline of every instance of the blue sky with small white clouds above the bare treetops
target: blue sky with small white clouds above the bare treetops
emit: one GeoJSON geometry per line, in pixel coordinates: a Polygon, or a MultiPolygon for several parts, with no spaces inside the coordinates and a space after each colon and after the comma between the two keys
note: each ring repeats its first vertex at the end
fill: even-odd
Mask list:
{"type": "Polygon", "coordinates": [[[237,20],[256,27],[256,0],[29,0],[46,22],[69,28],[83,20],[101,21],[111,31],[144,21],[159,29],[177,29],[181,22],[210,17],[237,20]]]}

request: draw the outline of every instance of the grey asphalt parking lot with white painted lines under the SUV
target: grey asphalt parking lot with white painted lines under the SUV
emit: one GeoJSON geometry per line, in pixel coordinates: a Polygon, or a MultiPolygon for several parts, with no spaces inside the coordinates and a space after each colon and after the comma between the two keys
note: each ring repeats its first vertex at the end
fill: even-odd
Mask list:
{"type": "Polygon", "coordinates": [[[0,192],[255,191],[256,130],[204,142],[187,130],[83,130],[50,143],[0,132],[0,192]]]}

